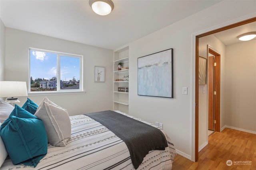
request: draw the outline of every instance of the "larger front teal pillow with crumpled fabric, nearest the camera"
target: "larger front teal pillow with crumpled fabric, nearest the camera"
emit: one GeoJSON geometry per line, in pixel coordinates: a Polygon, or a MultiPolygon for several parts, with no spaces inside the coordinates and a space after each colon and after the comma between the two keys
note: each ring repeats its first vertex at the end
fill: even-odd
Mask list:
{"type": "Polygon", "coordinates": [[[1,125],[0,134],[14,165],[36,167],[47,153],[48,139],[43,121],[18,105],[1,125]]]}

